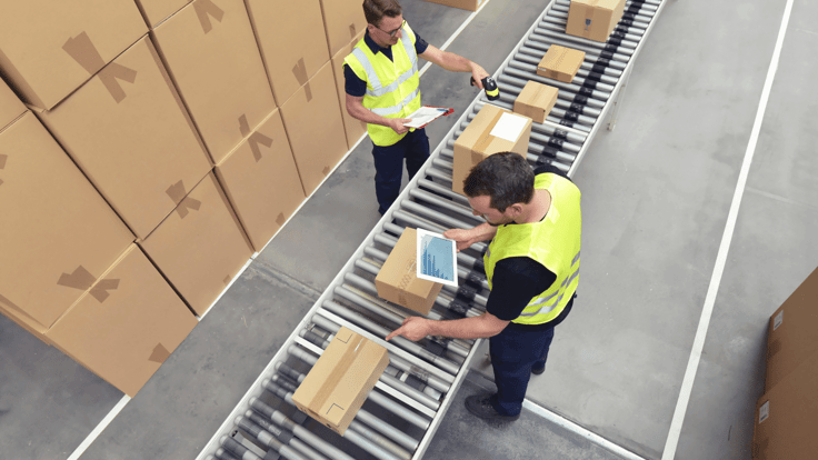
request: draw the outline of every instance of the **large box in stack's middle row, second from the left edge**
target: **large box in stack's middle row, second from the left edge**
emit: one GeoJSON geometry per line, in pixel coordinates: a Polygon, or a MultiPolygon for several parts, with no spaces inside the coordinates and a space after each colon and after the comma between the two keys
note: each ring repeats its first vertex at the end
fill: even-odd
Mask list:
{"type": "Polygon", "coordinates": [[[211,168],[148,37],[38,116],[139,238],[211,168]]]}

